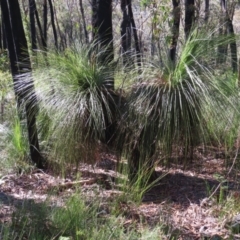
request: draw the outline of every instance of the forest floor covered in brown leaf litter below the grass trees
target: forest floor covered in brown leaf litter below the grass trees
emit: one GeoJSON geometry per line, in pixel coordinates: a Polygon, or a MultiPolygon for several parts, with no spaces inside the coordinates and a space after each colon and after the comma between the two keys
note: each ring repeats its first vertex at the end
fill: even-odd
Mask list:
{"type": "MultiPolygon", "coordinates": [[[[229,239],[230,232],[226,226],[234,213],[224,206],[224,201],[229,196],[240,200],[240,176],[231,166],[226,170],[225,154],[221,149],[213,148],[204,154],[202,150],[198,148],[194,152],[194,160],[187,167],[181,160],[168,168],[157,167],[158,175],[163,178],[144,194],[140,204],[120,201],[120,212],[125,216],[124,225],[136,226],[144,219],[150,228],[159,222],[164,223],[166,236],[168,234],[166,239],[171,239],[174,234],[178,236],[175,239],[203,239],[204,236],[214,235],[229,239]]],[[[101,154],[94,166],[80,164],[64,178],[50,170],[2,176],[0,222],[10,222],[12,213],[23,203],[49,201],[63,206],[65,199],[79,185],[85,196],[101,197],[104,214],[107,215],[109,201],[121,194],[115,181],[120,176],[115,171],[116,164],[114,155],[101,154]],[[79,173],[81,177],[77,177],[79,173]]]]}

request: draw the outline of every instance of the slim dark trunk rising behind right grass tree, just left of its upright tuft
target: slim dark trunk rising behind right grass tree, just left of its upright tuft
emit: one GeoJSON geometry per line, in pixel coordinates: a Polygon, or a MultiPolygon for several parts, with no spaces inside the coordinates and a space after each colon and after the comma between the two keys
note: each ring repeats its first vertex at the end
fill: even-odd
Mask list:
{"type": "Polygon", "coordinates": [[[179,0],[172,0],[172,4],[173,4],[173,27],[172,27],[172,41],[171,41],[169,55],[172,62],[175,63],[181,10],[179,5],[180,4],[179,0]]]}

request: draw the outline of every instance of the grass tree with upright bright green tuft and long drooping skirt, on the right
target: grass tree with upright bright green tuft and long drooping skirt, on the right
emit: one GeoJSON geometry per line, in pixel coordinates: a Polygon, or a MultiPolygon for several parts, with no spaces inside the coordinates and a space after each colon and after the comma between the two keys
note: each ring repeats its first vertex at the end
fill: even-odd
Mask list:
{"type": "Polygon", "coordinates": [[[209,139],[209,116],[228,119],[225,109],[233,104],[223,91],[227,84],[219,84],[211,68],[220,43],[213,32],[202,31],[191,32],[175,64],[168,53],[145,63],[130,91],[125,154],[133,181],[139,172],[153,171],[156,153],[168,159],[177,146],[185,159],[191,157],[193,147],[209,139]]]}

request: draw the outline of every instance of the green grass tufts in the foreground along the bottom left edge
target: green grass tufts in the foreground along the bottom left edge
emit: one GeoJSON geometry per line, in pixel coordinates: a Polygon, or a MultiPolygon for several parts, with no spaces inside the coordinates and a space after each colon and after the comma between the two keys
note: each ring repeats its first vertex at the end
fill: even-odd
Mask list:
{"type": "Polygon", "coordinates": [[[99,199],[88,203],[75,194],[64,206],[49,207],[25,200],[12,215],[12,223],[2,227],[0,237],[10,239],[159,239],[161,227],[139,231],[124,227],[124,218],[108,215],[99,199]],[[97,201],[96,201],[97,200],[97,201]],[[150,238],[152,237],[152,238],[150,238]],[[153,238],[154,237],[154,238],[153,238]]]}

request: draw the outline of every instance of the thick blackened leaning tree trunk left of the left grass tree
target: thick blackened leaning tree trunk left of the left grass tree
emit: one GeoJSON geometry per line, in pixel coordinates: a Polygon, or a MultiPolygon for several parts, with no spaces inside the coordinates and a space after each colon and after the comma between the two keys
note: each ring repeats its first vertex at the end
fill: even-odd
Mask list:
{"type": "Polygon", "coordinates": [[[25,92],[28,91],[33,93],[34,85],[31,78],[30,58],[27,52],[27,41],[24,34],[18,0],[1,0],[1,10],[4,25],[6,29],[8,29],[8,31],[6,31],[6,38],[11,71],[13,81],[15,83],[15,95],[18,102],[18,107],[20,108],[21,105],[24,105],[25,107],[31,160],[38,168],[43,168],[43,162],[38,143],[38,132],[35,116],[36,112],[34,111],[34,106],[32,104],[32,101],[34,101],[35,97],[32,95],[31,99],[29,99],[25,92]],[[29,78],[28,82],[26,83],[27,86],[22,86],[22,90],[22,87],[20,89],[16,87],[16,83],[19,80],[18,75],[23,72],[27,73],[29,78]]]}

